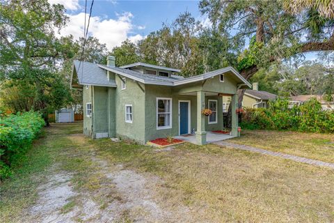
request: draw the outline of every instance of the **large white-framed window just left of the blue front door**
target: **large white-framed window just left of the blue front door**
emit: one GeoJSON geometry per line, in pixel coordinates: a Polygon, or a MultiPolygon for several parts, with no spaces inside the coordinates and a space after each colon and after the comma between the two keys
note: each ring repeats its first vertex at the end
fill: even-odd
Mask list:
{"type": "Polygon", "coordinates": [[[172,99],[157,98],[157,129],[172,128],[172,99]]]}

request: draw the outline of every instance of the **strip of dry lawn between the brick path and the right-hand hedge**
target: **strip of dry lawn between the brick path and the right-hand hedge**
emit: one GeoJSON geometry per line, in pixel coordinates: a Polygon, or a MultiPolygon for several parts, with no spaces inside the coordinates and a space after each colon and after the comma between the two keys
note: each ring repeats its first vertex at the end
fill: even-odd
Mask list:
{"type": "Polygon", "coordinates": [[[334,134],[243,130],[228,141],[334,163],[334,134]]]}

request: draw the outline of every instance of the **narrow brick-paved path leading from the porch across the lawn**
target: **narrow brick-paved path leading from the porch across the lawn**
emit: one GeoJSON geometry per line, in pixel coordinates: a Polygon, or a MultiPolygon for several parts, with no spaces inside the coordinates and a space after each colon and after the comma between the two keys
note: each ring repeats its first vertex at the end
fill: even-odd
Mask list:
{"type": "Polygon", "coordinates": [[[322,161],[319,161],[319,160],[312,160],[312,159],[308,159],[308,158],[300,157],[300,156],[296,156],[296,155],[289,155],[289,154],[286,154],[286,153],[267,151],[263,148],[256,148],[256,147],[245,146],[245,145],[240,145],[240,144],[232,144],[232,143],[227,142],[227,141],[216,141],[216,142],[214,142],[214,144],[216,144],[218,146],[228,146],[228,147],[232,147],[232,148],[239,148],[239,149],[242,149],[244,151],[252,151],[252,152],[255,152],[255,153],[262,153],[262,154],[266,154],[266,155],[273,155],[273,156],[277,156],[277,157],[283,157],[285,159],[294,160],[296,162],[303,162],[303,163],[307,163],[307,164],[317,165],[317,166],[320,166],[320,167],[330,167],[330,168],[334,169],[334,163],[331,163],[331,162],[322,162],[322,161]]]}

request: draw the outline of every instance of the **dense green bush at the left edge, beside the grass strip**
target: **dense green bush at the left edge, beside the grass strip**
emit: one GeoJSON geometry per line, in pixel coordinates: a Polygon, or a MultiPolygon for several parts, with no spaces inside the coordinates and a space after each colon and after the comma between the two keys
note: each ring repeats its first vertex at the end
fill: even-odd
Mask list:
{"type": "Polygon", "coordinates": [[[45,125],[38,112],[24,112],[0,117],[0,178],[11,175],[10,165],[30,148],[45,125]]]}

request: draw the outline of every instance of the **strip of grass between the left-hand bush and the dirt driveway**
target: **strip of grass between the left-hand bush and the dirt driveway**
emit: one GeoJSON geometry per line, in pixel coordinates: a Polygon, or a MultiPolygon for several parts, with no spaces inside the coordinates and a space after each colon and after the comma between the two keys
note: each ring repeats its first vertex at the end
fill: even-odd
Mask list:
{"type": "MultiPolygon", "coordinates": [[[[77,125],[74,128],[78,128],[77,125]]],[[[20,222],[28,208],[38,199],[37,187],[45,183],[50,167],[58,154],[70,146],[70,140],[56,137],[46,128],[32,148],[14,164],[13,176],[1,182],[0,219],[3,222],[20,222]]]]}

